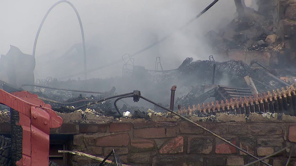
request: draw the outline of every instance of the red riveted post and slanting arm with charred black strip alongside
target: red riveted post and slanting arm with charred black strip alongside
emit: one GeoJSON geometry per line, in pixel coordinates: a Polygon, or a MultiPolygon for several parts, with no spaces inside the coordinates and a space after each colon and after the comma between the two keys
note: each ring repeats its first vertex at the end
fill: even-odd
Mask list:
{"type": "Polygon", "coordinates": [[[0,89],[0,103],[12,109],[12,164],[49,163],[49,129],[62,125],[49,104],[27,91],[12,94],[0,89]]]}

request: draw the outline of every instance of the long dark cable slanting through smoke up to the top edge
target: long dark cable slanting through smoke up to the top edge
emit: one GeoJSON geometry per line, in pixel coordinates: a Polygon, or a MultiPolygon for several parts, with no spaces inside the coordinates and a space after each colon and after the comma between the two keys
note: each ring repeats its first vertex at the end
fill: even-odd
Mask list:
{"type": "MultiPolygon", "coordinates": [[[[189,24],[191,24],[194,20],[196,20],[198,17],[200,17],[202,14],[204,14],[208,9],[210,9],[210,8],[211,8],[215,3],[217,3],[218,1],[219,1],[219,0],[215,0],[215,1],[213,1],[209,6],[207,6],[204,10],[202,10],[202,11],[201,11],[199,14],[197,14],[194,18],[190,19],[189,22],[187,22],[184,26],[182,26],[182,27],[179,28],[178,30],[182,30],[182,29],[184,29],[186,26],[188,26],[189,24]]],[[[157,45],[157,44],[163,42],[164,40],[170,38],[172,35],[173,35],[173,33],[171,33],[171,34],[169,34],[169,35],[163,37],[162,39],[158,40],[158,41],[155,42],[155,43],[152,43],[151,45],[149,45],[149,46],[147,46],[147,47],[145,47],[145,48],[142,48],[142,49],[139,50],[139,51],[136,51],[135,53],[131,54],[131,57],[136,56],[136,55],[139,55],[140,53],[142,53],[142,52],[148,50],[149,48],[152,48],[153,46],[155,46],[155,45],[157,45]]],[[[105,65],[103,65],[103,66],[99,66],[99,67],[96,67],[96,68],[90,69],[90,70],[86,71],[86,73],[89,73],[89,72],[92,72],[92,71],[96,71],[96,70],[99,70],[99,69],[103,69],[103,68],[105,68],[105,67],[108,67],[108,66],[111,66],[111,65],[117,64],[117,63],[119,63],[119,62],[121,62],[121,59],[118,60],[118,61],[112,61],[111,63],[109,63],[109,64],[105,64],[105,65]]],[[[74,76],[77,76],[77,75],[80,75],[80,74],[83,74],[83,73],[84,73],[84,72],[79,72],[79,73],[72,74],[72,75],[70,75],[70,76],[68,76],[68,77],[64,77],[64,78],[60,78],[60,79],[65,79],[65,78],[69,78],[69,77],[74,77],[74,76]]]]}

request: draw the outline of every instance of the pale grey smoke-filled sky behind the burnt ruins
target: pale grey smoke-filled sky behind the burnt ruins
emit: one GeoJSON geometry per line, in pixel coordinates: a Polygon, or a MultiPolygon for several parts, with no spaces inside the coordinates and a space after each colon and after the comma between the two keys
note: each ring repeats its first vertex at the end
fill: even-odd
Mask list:
{"type": "MultiPolygon", "coordinates": [[[[73,3],[81,17],[86,47],[96,47],[100,50],[87,53],[88,61],[96,60],[96,66],[121,59],[123,54],[134,53],[174,32],[212,2],[212,0],[69,1],[73,3]]],[[[14,45],[23,53],[32,55],[34,39],[41,20],[56,2],[57,0],[1,0],[0,54],[5,55],[9,51],[9,45],[14,45]]],[[[176,33],[173,38],[154,48],[154,51],[146,51],[135,57],[135,63],[147,69],[154,69],[155,58],[160,56],[163,67],[173,69],[186,57],[193,57],[194,60],[207,59],[202,36],[210,30],[217,30],[217,27],[226,25],[233,19],[234,12],[233,0],[218,1],[188,28],[176,33]]],[[[42,59],[57,58],[75,43],[82,43],[75,12],[68,4],[59,4],[49,13],[38,38],[35,69],[37,78],[43,75],[45,78],[54,77],[56,71],[51,73],[53,69],[49,67],[44,69],[42,59]]],[[[82,55],[81,63],[83,64],[82,55]]],[[[94,63],[88,64],[92,65],[88,66],[89,69],[96,67],[94,63]]],[[[90,77],[105,78],[110,77],[110,74],[121,75],[122,65],[123,63],[105,68],[102,70],[104,73],[93,72],[90,77]]],[[[83,66],[67,67],[83,70],[83,66]]]]}

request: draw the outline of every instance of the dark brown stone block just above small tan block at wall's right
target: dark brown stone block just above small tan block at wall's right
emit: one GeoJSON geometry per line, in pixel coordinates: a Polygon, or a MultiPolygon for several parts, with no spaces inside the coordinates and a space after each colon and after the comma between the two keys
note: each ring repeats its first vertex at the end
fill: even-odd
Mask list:
{"type": "Polygon", "coordinates": [[[258,147],[282,147],[284,144],[284,138],[264,136],[257,139],[258,147]]]}

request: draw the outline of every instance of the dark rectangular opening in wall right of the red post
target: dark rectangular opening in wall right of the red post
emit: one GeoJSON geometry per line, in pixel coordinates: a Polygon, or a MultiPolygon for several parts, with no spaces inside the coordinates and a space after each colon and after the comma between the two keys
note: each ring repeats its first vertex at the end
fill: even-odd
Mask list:
{"type": "Polygon", "coordinates": [[[70,165],[68,153],[59,153],[58,150],[71,150],[73,135],[51,134],[49,136],[49,161],[58,165],[70,165]]]}

